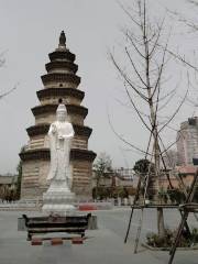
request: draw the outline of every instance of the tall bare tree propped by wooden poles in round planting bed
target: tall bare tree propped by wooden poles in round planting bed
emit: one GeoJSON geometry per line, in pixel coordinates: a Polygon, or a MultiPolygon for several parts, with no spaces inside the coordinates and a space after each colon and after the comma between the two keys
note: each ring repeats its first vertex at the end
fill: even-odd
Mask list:
{"type": "MultiPolygon", "coordinates": [[[[188,90],[186,90],[180,101],[177,102],[173,113],[162,118],[161,113],[163,110],[167,110],[168,103],[176,95],[177,88],[177,86],[173,87],[173,84],[170,84],[170,78],[166,72],[167,65],[173,58],[182,61],[180,56],[170,52],[168,47],[172,29],[166,28],[165,16],[158,21],[152,21],[147,0],[134,0],[132,9],[122,4],[120,7],[130,20],[130,28],[122,30],[127,40],[123,53],[125,59],[122,65],[112,52],[110,52],[110,58],[123,81],[131,107],[150,135],[147,147],[142,150],[119,135],[116,130],[113,131],[125,144],[143,153],[144,158],[150,158],[151,164],[154,163],[154,173],[147,173],[146,183],[150,182],[150,193],[152,194],[153,202],[157,204],[158,182],[162,170],[166,170],[164,156],[167,150],[175,144],[174,142],[165,146],[162,133],[180,110],[188,90]],[[172,88],[168,89],[168,86],[172,88]],[[161,164],[163,164],[164,169],[162,169],[161,164]]],[[[183,59],[183,63],[189,66],[185,59],[183,59]]],[[[170,184],[168,174],[167,178],[170,184]]],[[[147,184],[144,186],[144,198],[147,193],[147,184]]],[[[143,202],[145,202],[145,199],[143,199],[143,202]]],[[[165,228],[162,208],[157,208],[157,227],[158,234],[164,235],[165,228]]]]}

